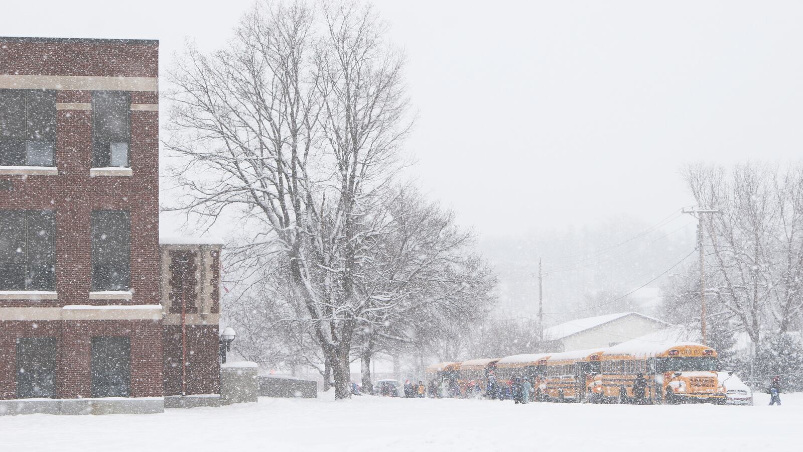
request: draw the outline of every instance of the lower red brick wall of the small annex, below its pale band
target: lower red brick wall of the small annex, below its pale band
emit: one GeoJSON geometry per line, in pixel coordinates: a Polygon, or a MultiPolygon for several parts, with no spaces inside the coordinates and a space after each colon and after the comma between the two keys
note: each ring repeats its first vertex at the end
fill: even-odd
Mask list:
{"type": "MultiPolygon", "coordinates": [[[[187,395],[219,394],[218,326],[187,325],[187,395]]],[[[165,325],[165,396],[181,395],[181,325],[165,325]]]]}

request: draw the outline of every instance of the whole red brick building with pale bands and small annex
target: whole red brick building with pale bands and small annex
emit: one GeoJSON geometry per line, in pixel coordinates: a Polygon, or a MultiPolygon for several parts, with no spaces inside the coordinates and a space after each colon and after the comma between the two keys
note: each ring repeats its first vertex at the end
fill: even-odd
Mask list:
{"type": "Polygon", "coordinates": [[[158,41],[0,37],[0,411],[219,394],[221,247],[160,250],[158,127],[158,41]]]}

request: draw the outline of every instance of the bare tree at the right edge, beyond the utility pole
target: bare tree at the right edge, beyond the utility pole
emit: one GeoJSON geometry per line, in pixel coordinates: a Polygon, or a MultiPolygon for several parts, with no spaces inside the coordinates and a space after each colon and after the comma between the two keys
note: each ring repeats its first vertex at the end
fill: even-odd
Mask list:
{"type": "Polygon", "coordinates": [[[693,165],[685,177],[697,202],[718,208],[704,228],[707,289],[760,347],[762,331],[799,325],[803,298],[803,167],[693,165]]]}

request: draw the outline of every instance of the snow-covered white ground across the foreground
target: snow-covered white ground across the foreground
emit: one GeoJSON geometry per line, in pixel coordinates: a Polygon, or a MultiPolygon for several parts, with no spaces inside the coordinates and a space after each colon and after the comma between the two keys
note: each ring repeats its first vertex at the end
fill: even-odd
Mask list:
{"type": "Polygon", "coordinates": [[[801,450],[803,393],[782,407],[514,405],[260,398],[163,414],[0,417],[0,450],[801,450]]]}

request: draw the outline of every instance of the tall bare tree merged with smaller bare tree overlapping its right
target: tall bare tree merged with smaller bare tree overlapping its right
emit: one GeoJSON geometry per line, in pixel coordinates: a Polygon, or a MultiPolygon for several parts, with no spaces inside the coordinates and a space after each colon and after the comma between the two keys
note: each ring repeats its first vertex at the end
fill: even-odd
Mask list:
{"type": "Polygon", "coordinates": [[[189,47],[169,75],[174,208],[209,224],[238,212],[253,231],[228,253],[256,288],[244,312],[263,309],[239,317],[247,353],[267,360],[267,328],[287,337],[272,360],[315,343],[336,398],[350,397],[357,335],[408,343],[403,319],[463,315],[492,284],[454,216],[391,187],[410,129],[403,67],[370,6],[258,3],[225,50],[189,47]]]}

